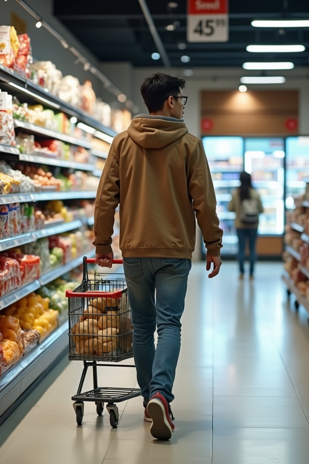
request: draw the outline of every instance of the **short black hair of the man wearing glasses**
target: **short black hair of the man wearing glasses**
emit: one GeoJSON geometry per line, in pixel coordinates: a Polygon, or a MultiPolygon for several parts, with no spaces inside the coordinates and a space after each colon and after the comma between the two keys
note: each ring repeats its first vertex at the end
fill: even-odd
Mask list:
{"type": "Polygon", "coordinates": [[[162,72],[156,72],[146,77],[140,88],[145,105],[150,113],[162,110],[166,98],[173,95],[177,97],[181,89],[186,85],[184,79],[169,76],[162,72]]]}

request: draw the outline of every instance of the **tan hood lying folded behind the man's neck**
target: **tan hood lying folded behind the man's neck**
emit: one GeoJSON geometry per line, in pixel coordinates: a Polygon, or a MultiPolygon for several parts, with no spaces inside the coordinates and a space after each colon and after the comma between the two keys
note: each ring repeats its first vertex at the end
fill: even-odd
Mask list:
{"type": "Polygon", "coordinates": [[[132,140],[144,148],[163,148],[187,134],[183,119],[167,116],[134,116],[128,127],[132,140]]]}

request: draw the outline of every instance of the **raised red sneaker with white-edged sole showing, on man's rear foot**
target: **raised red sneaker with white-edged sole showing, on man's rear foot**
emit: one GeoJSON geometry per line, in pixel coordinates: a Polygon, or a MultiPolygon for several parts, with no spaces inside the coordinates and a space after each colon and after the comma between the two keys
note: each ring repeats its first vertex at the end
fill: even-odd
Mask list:
{"type": "Polygon", "coordinates": [[[156,393],[148,401],[147,412],[152,419],[150,433],[158,440],[169,440],[175,430],[174,420],[170,405],[161,393],[156,393]]]}

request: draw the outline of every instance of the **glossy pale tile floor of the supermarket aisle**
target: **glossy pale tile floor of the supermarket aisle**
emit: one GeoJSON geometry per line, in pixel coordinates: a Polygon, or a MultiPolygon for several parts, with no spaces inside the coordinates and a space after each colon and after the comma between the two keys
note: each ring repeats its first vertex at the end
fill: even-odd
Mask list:
{"type": "MultiPolygon", "coordinates": [[[[286,303],[281,267],[259,264],[251,283],[235,263],[211,281],[193,266],[170,442],[152,440],[139,398],[122,404],[117,430],[92,403],[77,427],[82,365],[63,359],[0,427],[0,464],[308,464],[308,315],[286,303]]],[[[134,369],[101,368],[99,378],[136,385],[134,369]]]]}

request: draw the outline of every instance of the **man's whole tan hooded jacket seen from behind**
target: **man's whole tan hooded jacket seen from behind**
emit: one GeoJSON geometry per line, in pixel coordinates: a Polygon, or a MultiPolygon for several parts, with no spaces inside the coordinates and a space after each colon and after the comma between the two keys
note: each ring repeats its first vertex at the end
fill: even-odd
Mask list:
{"type": "Polygon", "coordinates": [[[192,258],[195,215],[208,253],[219,256],[223,231],[202,141],[182,119],[135,116],[117,135],[95,201],[96,252],[112,251],[120,204],[124,258],[192,258]]]}

